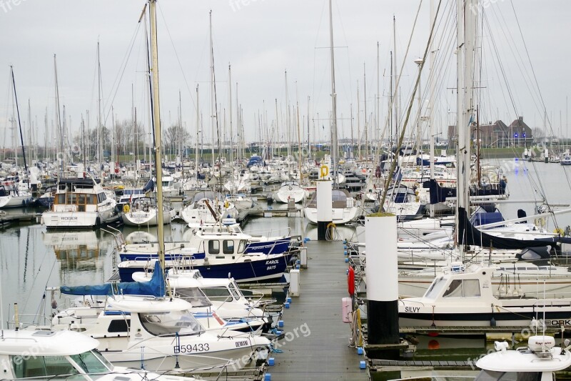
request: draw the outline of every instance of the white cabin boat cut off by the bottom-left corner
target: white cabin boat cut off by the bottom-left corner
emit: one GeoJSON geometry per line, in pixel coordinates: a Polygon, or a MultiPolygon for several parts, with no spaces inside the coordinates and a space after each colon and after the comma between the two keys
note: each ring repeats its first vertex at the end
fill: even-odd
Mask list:
{"type": "Polygon", "coordinates": [[[118,367],[96,349],[98,340],[72,331],[3,330],[0,362],[3,380],[194,381],[118,367]]]}

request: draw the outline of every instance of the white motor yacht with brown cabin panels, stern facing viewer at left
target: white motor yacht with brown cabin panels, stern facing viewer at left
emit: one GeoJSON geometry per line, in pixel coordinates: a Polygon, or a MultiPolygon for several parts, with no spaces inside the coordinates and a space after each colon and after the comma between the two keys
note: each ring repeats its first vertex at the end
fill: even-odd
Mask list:
{"type": "Polygon", "coordinates": [[[116,204],[98,179],[59,179],[54,204],[41,214],[41,224],[48,229],[92,229],[121,219],[116,204]]]}

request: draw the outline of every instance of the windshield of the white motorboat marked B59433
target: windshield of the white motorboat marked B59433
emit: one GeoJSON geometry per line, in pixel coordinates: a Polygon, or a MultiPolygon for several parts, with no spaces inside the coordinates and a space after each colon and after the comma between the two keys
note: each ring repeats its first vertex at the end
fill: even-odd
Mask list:
{"type": "Polygon", "coordinates": [[[188,310],[147,312],[138,315],[145,330],[155,336],[198,335],[204,331],[188,310]]]}

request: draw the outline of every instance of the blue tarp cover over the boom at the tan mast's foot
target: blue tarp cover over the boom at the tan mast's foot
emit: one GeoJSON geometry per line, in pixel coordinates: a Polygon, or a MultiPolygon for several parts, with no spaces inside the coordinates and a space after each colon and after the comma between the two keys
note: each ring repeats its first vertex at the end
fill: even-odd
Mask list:
{"type": "Polygon", "coordinates": [[[61,286],[59,291],[68,295],[150,295],[163,297],[166,295],[165,279],[161,264],[157,261],[153,277],[148,282],[119,282],[96,284],[92,286],[61,286]]]}

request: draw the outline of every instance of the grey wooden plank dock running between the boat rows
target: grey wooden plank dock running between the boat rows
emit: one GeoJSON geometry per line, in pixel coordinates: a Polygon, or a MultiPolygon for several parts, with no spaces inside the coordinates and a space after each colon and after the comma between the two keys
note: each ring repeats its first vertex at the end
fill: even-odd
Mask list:
{"type": "Polygon", "coordinates": [[[342,242],[310,241],[308,269],[300,270],[300,296],[283,310],[283,340],[266,370],[272,381],[368,380],[363,355],[348,347],[350,327],[341,320],[347,297],[342,242]]]}

